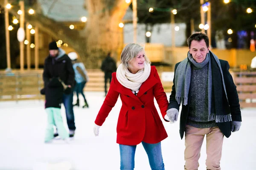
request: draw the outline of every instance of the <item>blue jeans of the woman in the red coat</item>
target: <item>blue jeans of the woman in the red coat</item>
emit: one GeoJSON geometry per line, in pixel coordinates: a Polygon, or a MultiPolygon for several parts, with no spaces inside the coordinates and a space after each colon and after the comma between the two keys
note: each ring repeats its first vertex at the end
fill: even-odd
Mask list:
{"type": "MultiPolygon", "coordinates": [[[[157,144],[147,144],[141,142],[148,155],[151,170],[164,170],[161,142],[157,144]]],[[[137,145],[122,145],[120,149],[120,170],[134,170],[134,156],[137,145]]]]}

